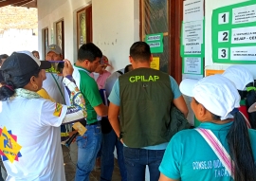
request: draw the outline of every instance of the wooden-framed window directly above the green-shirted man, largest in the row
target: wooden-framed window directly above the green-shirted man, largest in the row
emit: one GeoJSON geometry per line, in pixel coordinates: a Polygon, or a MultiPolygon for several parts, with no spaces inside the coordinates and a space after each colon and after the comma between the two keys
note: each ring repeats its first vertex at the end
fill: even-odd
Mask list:
{"type": "Polygon", "coordinates": [[[92,42],[92,6],[77,12],[77,42],[78,48],[82,44],[92,42]]]}

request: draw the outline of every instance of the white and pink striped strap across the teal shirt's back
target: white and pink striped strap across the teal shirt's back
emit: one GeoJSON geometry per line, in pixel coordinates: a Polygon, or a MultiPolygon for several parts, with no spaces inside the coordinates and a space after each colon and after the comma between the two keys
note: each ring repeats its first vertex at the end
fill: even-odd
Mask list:
{"type": "Polygon", "coordinates": [[[226,151],[224,146],[221,144],[219,139],[208,129],[196,128],[195,129],[201,136],[208,142],[210,148],[218,156],[226,170],[229,172],[231,177],[234,179],[234,172],[232,170],[233,160],[230,158],[229,153],[226,151]]]}

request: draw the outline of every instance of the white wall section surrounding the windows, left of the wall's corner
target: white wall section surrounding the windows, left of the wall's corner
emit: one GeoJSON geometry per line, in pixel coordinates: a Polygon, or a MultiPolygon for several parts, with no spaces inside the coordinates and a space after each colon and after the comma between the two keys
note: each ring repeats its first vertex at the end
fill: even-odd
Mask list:
{"type": "MultiPolygon", "coordinates": [[[[64,58],[77,59],[76,12],[91,4],[90,0],[38,0],[39,51],[43,52],[42,29],[48,27],[48,44],[56,43],[55,23],[64,20],[64,58]]],[[[43,57],[43,56],[42,56],[43,57]]]]}

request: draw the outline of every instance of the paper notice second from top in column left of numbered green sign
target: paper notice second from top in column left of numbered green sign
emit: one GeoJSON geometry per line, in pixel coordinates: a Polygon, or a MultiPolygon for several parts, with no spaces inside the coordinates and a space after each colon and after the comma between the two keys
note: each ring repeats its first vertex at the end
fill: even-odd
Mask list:
{"type": "Polygon", "coordinates": [[[183,44],[203,44],[203,21],[194,21],[183,25],[183,44]]]}

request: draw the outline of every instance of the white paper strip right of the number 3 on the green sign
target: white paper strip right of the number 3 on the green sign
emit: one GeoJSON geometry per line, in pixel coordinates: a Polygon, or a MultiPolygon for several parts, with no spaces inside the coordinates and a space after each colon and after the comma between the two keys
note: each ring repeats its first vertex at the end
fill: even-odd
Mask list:
{"type": "Polygon", "coordinates": [[[230,48],[231,61],[256,61],[256,46],[230,48]]]}

